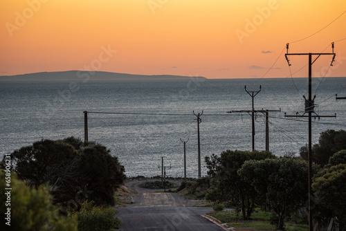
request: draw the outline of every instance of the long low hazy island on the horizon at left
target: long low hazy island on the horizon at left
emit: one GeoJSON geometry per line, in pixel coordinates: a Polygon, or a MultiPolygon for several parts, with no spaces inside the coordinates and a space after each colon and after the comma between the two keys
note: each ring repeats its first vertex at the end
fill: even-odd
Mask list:
{"type": "MultiPolygon", "coordinates": [[[[131,75],[104,71],[58,71],[24,75],[0,76],[1,81],[111,81],[111,80],[189,80],[192,76],[181,75],[131,75]]],[[[193,76],[198,79],[206,77],[193,76]]]]}

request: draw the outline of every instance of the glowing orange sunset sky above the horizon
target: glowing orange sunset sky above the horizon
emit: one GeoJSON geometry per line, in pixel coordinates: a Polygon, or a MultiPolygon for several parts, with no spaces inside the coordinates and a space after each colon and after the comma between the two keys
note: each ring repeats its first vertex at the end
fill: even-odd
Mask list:
{"type": "MultiPolygon", "coordinates": [[[[286,43],[331,53],[334,41],[334,66],[320,57],[313,76],[345,77],[345,10],[345,0],[0,0],[0,75],[288,77],[286,43]]],[[[290,59],[293,77],[307,77],[307,56],[290,59]]]]}

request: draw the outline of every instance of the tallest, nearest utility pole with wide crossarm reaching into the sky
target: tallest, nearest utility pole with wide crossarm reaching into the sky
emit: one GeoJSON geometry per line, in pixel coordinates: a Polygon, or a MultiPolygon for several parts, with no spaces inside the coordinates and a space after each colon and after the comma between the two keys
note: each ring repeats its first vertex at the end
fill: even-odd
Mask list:
{"type": "MultiPolygon", "coordinates": [[[[311,98],[311,73],[312,73],[312,64],[320,57],[321,55],[333,55],[333,59],[331,60],[331,66],[333,66],[333,62],[335,59],[336,54],[334,53],[334,43],[331,44],[331,48],[333,50],[333,53],[289,53],[289,44],[286,44],[287,53],[285,54],[287,63],[289,66],[291,64],[289,63],[289,55],[308,55],[309,56],[309,100],[308,100],[308,110],[309,111],[309,151],[308,151],[308,160],[309,160],[309,231],[313,231],[313,194],[312,194],[312,136],[311,136],[311,119],[312,119],[312,112],[313,112],[313,100],[311,98]],[[318,55],[315,60],[312,61],[312,56],[318,55]]],[[[303,115],[296,115],[296,116],[303,116],[303,115]]],[[[318,116],[320,117],[320,116],[318,116]]],[[[325,116],[324,116],[325,117],[325,116]]]]}

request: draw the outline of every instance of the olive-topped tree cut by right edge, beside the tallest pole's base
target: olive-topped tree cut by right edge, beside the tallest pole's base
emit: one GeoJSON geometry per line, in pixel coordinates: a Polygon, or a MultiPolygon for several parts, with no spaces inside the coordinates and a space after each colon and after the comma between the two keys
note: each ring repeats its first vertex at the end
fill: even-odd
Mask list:
{"type": "Polygon", "coordinates": [[[322,169],[313,178],[312,188],[315,192],[318,221],[337,217],[339,228],[346,225],[346,164],[334,165],[322,169]]]}

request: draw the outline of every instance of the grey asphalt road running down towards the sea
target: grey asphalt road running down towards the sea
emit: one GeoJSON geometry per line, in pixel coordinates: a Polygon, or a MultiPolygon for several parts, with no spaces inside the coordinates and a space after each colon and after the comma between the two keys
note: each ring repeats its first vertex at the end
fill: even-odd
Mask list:
{"type": "Polygon", "coordinates": [[[156,193],[156,190],[141,189],[138,184],[127,185],[138,192],[134,203],[117,209],[117,217],[122,222],[120,230],[223,230],[201,216],[212,211],[212,208],[188,207],[185,206],[185,199],[174,193],[156,193]]]}

